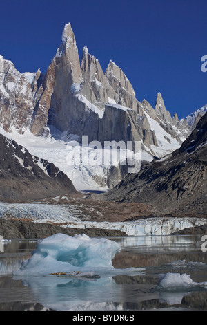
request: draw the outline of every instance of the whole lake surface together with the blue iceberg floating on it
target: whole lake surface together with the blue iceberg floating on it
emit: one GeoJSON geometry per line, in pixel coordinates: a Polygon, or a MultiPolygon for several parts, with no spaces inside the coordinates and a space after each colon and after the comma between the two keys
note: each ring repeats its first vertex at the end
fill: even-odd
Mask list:
{"type": "Polygon", "coordinates": [[[207,310],[202,236],[0,241],[0,310],[207,310]]]}

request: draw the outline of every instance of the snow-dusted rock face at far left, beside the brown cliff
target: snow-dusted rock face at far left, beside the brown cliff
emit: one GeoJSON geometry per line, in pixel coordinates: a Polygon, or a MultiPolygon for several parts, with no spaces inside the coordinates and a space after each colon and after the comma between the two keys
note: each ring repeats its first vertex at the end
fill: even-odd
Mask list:
{"type": "Polygon", "coordinates": [[[6,131],[15,127],[19,132],[30,127],[41,93],[43,75],[19,73],[12,62],[0,55],[0,120],[6,131]]]}

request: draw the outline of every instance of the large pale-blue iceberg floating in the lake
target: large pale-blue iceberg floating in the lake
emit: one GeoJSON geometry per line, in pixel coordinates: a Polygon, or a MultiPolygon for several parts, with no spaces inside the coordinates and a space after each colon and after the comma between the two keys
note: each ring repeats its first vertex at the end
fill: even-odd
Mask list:
{"type": "MultiPolygon", "coordinates": [[[[115,241],[90,238],[86,234],[74,237],[54,234],[39,241],[30,259],[23,261],[13,275],[93,276],[97,272],[115,270],[112,259],[121,250],[115,241]]],[[[137,268],[128,268],[134,270],[137,268]]],[[[118,270],[118,269],[117,269],[118,270]]],[[[120,269],[121,270],[121,269],[120,269]]],[[[138,269],[140,270],[140,268],[138,269]]]]}

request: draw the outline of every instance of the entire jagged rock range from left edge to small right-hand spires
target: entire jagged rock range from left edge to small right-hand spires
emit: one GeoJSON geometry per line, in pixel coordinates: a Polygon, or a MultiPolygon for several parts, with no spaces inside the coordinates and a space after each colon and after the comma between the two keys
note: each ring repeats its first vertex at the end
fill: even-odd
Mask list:
{"type": "MultiPolygon", "coordinates": [[[[0,57],[0,124],[22,133],[30,129],[35,136],[48,135],[50,126],[68,136],[83,135],[88,141],[141,141],[142,149],[159,156],[153,147],[166,140],[172,149],[188,136],[188,124],[177,116],[171,118],[159,93],[155,109],[139,102],[124,72],[110,61],[103,73],[99,61],[83,48],[79,61],[75,35],[69,24],[63,29],[62,44],[57,49],[46,75],[19,73],[12,62],[0,57]],[[164,130],[157,138],[149,118],[164,130]],[[168,136],[169,135],[169,136],[168,136]]],[[[171,150],[172,151],[172,150],[171,150]]]]}

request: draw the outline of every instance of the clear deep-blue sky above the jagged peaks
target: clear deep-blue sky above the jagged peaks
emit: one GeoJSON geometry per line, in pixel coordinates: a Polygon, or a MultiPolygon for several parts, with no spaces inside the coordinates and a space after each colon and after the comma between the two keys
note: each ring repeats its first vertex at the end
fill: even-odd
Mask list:
{"type": "Polygon", "coordinates": [[[83,46],[126,74],[137,100],[184,118],[207,104],[206,0],[0,0],[0,54],[21,73],[46,72],[68,22],[83,46]]]}

